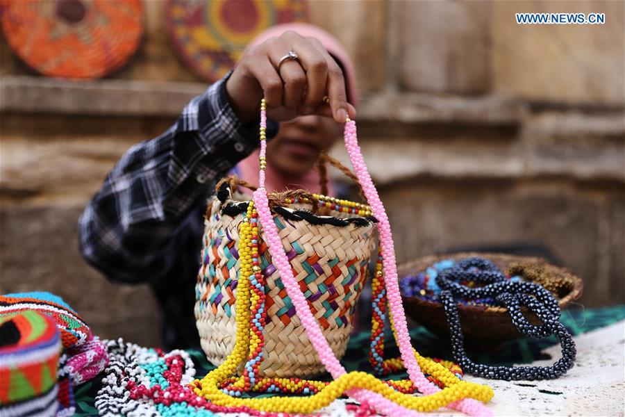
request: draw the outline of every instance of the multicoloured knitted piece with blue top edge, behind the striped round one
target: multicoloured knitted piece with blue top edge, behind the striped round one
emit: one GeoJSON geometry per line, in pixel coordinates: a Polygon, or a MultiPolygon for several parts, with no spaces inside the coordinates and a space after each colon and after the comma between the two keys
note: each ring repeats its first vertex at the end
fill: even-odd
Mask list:
{"type": "Polygon", "coordinates": [[[99,338],[61,297],[51,293],[0,296],[0,314],[36,311],[53,320],[60,332],[63,354],[58,359],[58,402],[61,416],[74,412],[73,386],[100,373],[108,356],[99,338]]]}

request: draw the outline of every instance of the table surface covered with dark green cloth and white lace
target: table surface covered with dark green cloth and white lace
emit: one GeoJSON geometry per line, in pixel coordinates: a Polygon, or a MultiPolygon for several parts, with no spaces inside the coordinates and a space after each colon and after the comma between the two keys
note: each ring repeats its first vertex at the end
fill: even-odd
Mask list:
{"type": "MultiPolygon", "coordinates": [[[[620,414],[623,413],[623,394],[625,384],[623,382],[623,343],[625,332],[625,306],[611,306],[600,309],[568,309],[562,312],[562,323],[569,331],[576,336],[578,345],[578,357],[576,366],[564,377],[553,381],[532,382],[523,384],[519,382],[492,381],[466,376],[466,379],[481,382],[493,387],[495,398],[491,406],[496,415],[518,415],[528,411],[532,415],[546,414],[542,411],[549,411],[550,414],[620,414]],[[592,333],[591,333],[592,332],[592,333]],[[615,356],[616,355],[616,356],[615,356]],[[606,362],[607,361],[607,362],[606,362]],[[596,362],[596,363],[595,363],[596,362]],[[619,366],[620,363],[620,366],[619,366]],[[592,393],[592,398],[581,395],[576,401],[581,402],[579,407],[587,409],[576,409],[572,411],[565,407],[567,399],[565,392],[568,387],[572,387],[572,393],[587,393],[592,391],[592,375],[597,375],[599,368],[605,368],[600,373],[602,381],[608,384],[603,387],[601,394],[605,397],[606,390],[615,393],[615,398],[608,395],[603,398],[604,407],[597,408],[597,393],[592,393]],[[614,373],[616,372],[616,374],[614,373]],[[606,375],[609,373],[610,375],[606,375]],[[589,379],[590,378],[590,379],[589,379]],[[590,386],[589,386],[590,384],[590,386]],[[554,388],[557,387],[557,388],[554,388]],[[551,391],[550,391],[551,389],[551,391]],[[547,399],[544,399],[547,395],[547,399]],[[561,398],[559,398],[560,396],[561,398]],[[586,401],[586,402],[584,402],[586,401]],[[615,402],[616,401],[616,402],[615,402]],[[540,404],[548,402],[549,404],[540,404]],[[562,404],[560,404],[562,403],[562,404]],[[522,407],[522,404],[526,407],[522,407]],[[558,404],[560,404],[558,406],[558,404]],[[607,404],[607,405],[606,405],[607,404]],[[551,407],[545,409],[544,407],[551,407]],[[556,407],[556,408],[554,408],[556,407]],[[558,408],[559,407],[559,408],[558,408]],[[607,407],[607,408],[606,408],[607,407]],[[614,411],[614,413],[612,412],[614,411]]],[[[410,330],[412,344],[415,345],[419,353],[442,359],[451,358],[449,341],[431,334],[423,327],[415,327],[410,330]]],[[[387,347],[385,357],[397,357],[399,351],[392,341],[392,337],[387,335],[387,347]]],[[[368,361],[369,332],[360,332],[350,338],[347,352],[342,359],[342,363],[348,371],[364,370],[371,373],[372,369],[368,361]]],[[[209,370],[215,367],[210,364],[203,352],[190,350],[197,370],[196,376],[206,375],[209,370]]],[[[488,353],[471,354],[474,361],[487,364],[499,364],[512,366],[514,364],[548,365],[559,357],[559,345],[555,338],[545,338],[535,340],[521,338],[516,341],[505,343],[500,350],[488,353]]],[[[386,377],[387,379],[406,378],[406,373],[396,373],[386,377]]],[[[319,379],[329,379],[329,375],[319,379]]],[[[74,398],[76,400],[76,416],[97,415],[94,407],[94,399],[97,391],[101,387],[101,376],[92,379],[90,382],[76,386],[74,398]]],[[[261,396],[269,396],[265,394],[261,396]]],[[[601,395],[599,396],[601,398],[601,395]]],[[[568,401],[572,402],[572,401],[568,401]]],[[[575,402],[575,401],[573,401],[575,402]]],[[[570,408],[570,407],[569,407],[570,408]]]]}

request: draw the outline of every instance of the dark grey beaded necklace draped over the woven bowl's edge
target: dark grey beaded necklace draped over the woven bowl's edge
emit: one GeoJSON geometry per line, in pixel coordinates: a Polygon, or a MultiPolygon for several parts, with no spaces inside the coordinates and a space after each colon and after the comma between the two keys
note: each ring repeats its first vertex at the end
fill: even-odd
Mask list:
{"type": "Polygon", "coordinates": [[[465,373],[507,381],[553,379],[565,374],[573,367],[576,354],[575,343],[569,331],[560,322],[558,300],[539,284],[509,281],[494,263],[475,257],[463,259],[453,267],[440,271],[436,282],[442,290],[440,300],[451,334],[453,359],[465,373]],[[485,285],[469,288],[460,284],[461,281],[475,281],[485,285]],[[544,338],[555,335],[562,347],[562,358],[551,366],[487,366],[474,363],[465,352],[456,298],[483,297],[492,297],[499,305],[505,306],[510,313],[512,323],[524,336],[544,338]],[[535,326],[529,323],[523,316],[522,306],[532,311],[540,319],[542,325],[535,326]]]}

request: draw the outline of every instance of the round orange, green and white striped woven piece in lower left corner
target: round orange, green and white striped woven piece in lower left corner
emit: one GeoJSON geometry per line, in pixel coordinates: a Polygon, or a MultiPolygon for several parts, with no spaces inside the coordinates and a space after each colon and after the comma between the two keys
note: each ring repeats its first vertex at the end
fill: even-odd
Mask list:
{"type": "Polygon", "coordinates": [[[38,311],[0,313],[0,415],[53,416],[58,409],[56,323],[38,311]]]}

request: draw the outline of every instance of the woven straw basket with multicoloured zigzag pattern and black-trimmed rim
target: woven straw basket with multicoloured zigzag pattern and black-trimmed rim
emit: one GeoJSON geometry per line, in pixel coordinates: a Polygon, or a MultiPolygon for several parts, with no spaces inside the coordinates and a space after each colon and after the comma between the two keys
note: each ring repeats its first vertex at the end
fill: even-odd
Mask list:
{"type": "MultiPolygon", "coordinates": [[[[340,165],[329,156],[323,159],[340,165]]],[[[346,174],[349,172],[338,167],[346,174]]],[[[323,185],[327,181],[325,169],[321,172],[323,185]]],[[[208,205],[196,286],[195,316],[201,346],[215,365],[226,359],[235,343],[238,229],[248,206],[248,202],[233,199],[238,185],[253,188],[237,179],[222,181],[208,205]]],[[[322,186],[322,193],[326,189],[322,186]]],[[[302,190],[272,193],[269,198],[294,276],[334,354],[341,358],[352,330],[354,307],[365,284],[376,220],[367,216],[365,206],[302,190]]],[[[264,242],[262,228],[260,236],[264,242]]],[[[260,375],[303,378],[323,373],[324,366],[295,314],[267,245],[261,243],[258,252],[260,268],[267,279],[265,357],[260,375]]]]}

